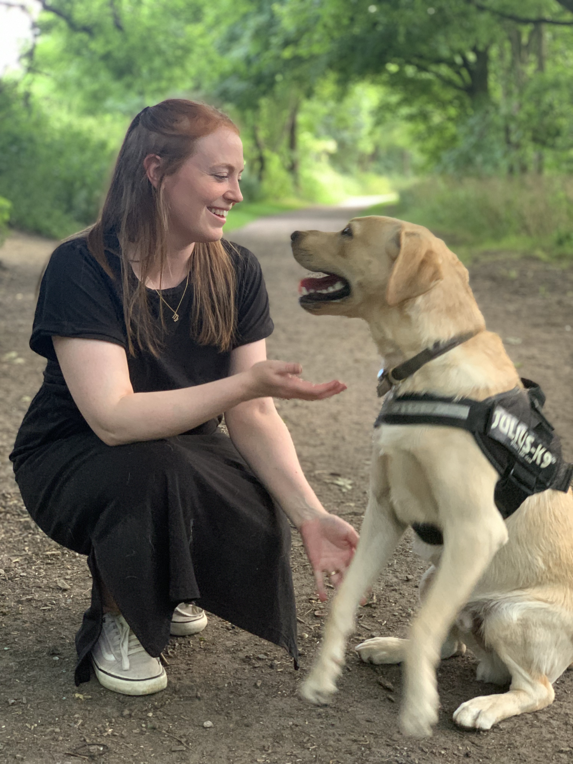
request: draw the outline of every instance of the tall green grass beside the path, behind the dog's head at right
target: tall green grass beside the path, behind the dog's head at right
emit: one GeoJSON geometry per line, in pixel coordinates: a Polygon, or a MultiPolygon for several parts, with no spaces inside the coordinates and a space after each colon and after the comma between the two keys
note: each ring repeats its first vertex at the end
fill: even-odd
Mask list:
{"type": "Polygon", "coordinates": [[[455,244],[573,255],[573,178],[431,177],[401,193],[398,217],[455,244]]]}

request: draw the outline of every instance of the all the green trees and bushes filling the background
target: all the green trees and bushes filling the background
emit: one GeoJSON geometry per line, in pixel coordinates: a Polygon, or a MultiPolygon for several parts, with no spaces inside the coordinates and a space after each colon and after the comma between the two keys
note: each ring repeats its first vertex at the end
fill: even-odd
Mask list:
{"type": "Polygon", "coordinates": [[[387,193],[388,176],[431,173],[404,194],[420,219],[465,241],[486,230],[542,241],[531,221],[547,207],[568,241],[568,181],[553,176],[573,173],[571,0],[43,7],[21,82],[0,82],[0,194],[14,225],[61,235],[92,222],[127,118],[186,96],[241,127],[245,211],[228,225],[267,202],[387,193]]]}

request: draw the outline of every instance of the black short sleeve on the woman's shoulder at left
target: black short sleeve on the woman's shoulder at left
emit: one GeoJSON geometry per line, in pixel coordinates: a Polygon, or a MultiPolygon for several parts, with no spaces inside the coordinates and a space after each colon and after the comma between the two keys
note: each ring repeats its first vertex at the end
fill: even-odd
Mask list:
{"type": "Polygon", "coordinates": [[[127,346],[118,285],[90,254],[85,239],[60,244],[40,284],[30,347],[56,360],[54,335],[127,346]]]}

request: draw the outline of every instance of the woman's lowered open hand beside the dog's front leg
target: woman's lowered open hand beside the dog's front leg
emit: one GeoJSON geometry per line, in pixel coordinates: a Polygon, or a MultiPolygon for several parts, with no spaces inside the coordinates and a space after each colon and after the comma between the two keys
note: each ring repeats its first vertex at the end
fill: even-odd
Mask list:
{"type": "Polygon", "coordinates": [[[299,527],[299,533],[314,571],[316,591],[320,601],[325,602],[324,575],[338,587],[354,556],[358,533],[341,517],[329,513],[305,520],[299,527]]]}

